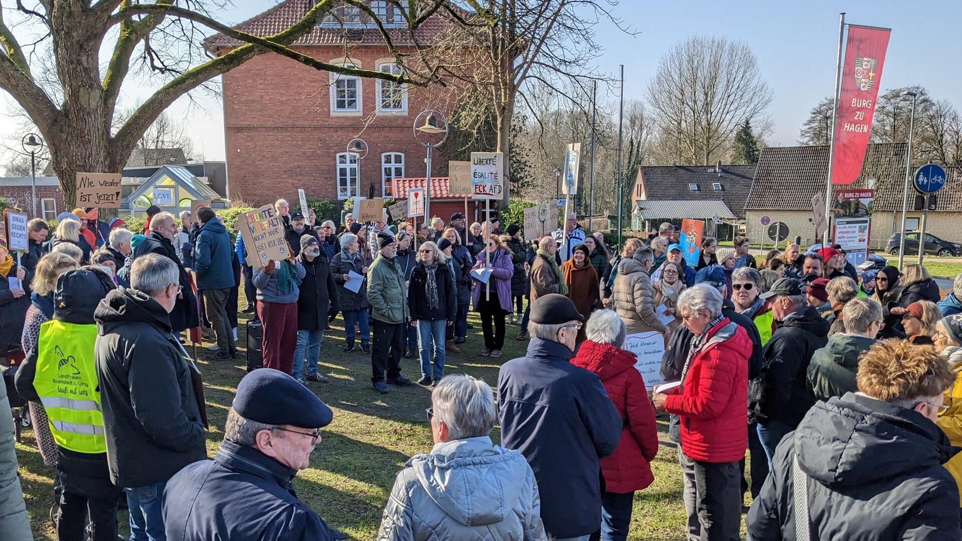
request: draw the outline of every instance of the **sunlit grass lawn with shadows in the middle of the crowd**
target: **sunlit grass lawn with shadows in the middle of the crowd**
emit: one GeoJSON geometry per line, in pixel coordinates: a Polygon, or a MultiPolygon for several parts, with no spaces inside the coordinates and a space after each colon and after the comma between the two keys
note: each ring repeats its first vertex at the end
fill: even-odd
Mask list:
{"type": "MultiPolygon", "coordinates": [[[[241,317],[248,319],[246,315],[241,317]]],[[[515,340],[519,327],[508,325],[504,356],[482,357],[477,354],[484,348],[480,321],[471,313],[468,322],[474,325],[474,329],[468,331],[468,343],[461,346],[461,353],[448,353],[445,373],[472,374],[495,385],[500,362],[523,354],[527,341],[515,340]]],[[[332,326],[324,338],[320,358],[320,372],[326,374],[330,382],[311,383],[310,388],[334,408],[334,422],[322,430],[322,441],[314,451],[311,467],[298,474],[294,488],[301,500],[316,509],[329,524],[353,539],[372,540],[377,535],[381,511],[395,475],[408,457],[428,452],[433,445],[424,416],[424,408],[430,405],[430,391],[412,385],[401,389],[390,386],[388,395],[374,393],[369,383],[369,355],[360,348],[344,353],[342,319],[332,326]]],[[[243,351],[243,322],[239,333],[238,345],[243,351]]],[[[242,360],[209,363],[203,360],[205,352],[205,348],[197,348],[211,422],[208,454],[213,456],[223,438],[227,410],[237,384],[246,373],[242,360]]],[[[404,374],[418,379],[417,360],[402,358],[401,365],[404,374]]],[[[655,481],[635,495],[630,539],[668,541],[684,536],[682,480],[675,446],[668,439],[667,430],[667,422],[660,422],[662,447],[652,464],[655,481]]],[[[53,502],[56,472],[43,465],[30,430],[24,430],[23,434],[23,443],[17,444],[16,450],[31,525],[37,539],[53,540],[56,534],[47,516],[53,502]]],[[[496,443],[497,426],[492,437],[496,443]]],[[[120,520],[122,530],[126,531],[124,513],[120,520]]]]}

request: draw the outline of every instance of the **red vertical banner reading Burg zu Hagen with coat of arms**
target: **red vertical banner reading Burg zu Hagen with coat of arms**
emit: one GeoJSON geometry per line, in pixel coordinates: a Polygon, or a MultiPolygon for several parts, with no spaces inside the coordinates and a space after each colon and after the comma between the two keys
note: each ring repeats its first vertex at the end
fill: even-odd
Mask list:
{"type": "Polygon", "coordinates": [[[839,93],[832,184],[851,184],[862,173],[872,132],[878,83],[889,46],[888,28],[848,25],[848,44],[839,93]]]}

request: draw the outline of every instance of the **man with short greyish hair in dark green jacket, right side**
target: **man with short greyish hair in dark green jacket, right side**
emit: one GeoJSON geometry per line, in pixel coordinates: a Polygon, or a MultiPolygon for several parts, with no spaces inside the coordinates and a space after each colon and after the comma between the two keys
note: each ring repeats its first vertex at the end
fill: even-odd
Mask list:
{"type": "Polygon", "coordinates": [[[824,348],[816,349],[808,365],[808,387],[816,399],[858,392],[855,374],[859,358],[872,348],[875,335],[885,326],[882,306],[864,296],[849,300],[840,317],[845,332],[833,334],[824,348]]]}

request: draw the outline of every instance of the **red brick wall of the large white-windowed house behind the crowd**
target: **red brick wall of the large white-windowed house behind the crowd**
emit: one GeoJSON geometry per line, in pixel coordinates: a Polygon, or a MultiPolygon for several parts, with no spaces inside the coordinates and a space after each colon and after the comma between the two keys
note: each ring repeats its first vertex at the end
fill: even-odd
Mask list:
{"type": "MultiPolygon", "coordinates": [[[[302,48],[317,59],[343,56],[341,47],[302,48]]],[[[380,47],[355,48],[352,59],[365,69],[388,57],[380,47]]],[[[381,194],[381,154],[404,153],[405,176],[423,176],[426,148],[412,127],[425,109],[425,92],[408,89],[408,113],[380,114],[375,81],[361,80],[363,116],[331,116],[330,73],[275,54],[255,57],[223,76],[225,154],[231,199],[252,205],[278,197],[295,200],[297,189],[309,197],[337,197],[336,155],[355,137],[369,147],[359,167],[360,194],[371,182],[381,194]],[[366,126],[367,124],[367,126],[366,126]]],[[[434,96],[432,96],[434,97],[434,96]]],[[[445,114],[450,112],[445,111],[445,114]]],[[[441,151],[434,155],[434,174],[446,167],[441,151]]]]}

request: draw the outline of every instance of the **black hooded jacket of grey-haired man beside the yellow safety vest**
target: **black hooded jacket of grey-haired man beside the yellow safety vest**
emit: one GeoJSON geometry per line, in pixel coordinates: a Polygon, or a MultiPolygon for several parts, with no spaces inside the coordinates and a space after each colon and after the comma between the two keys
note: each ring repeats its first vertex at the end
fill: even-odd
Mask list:
{"type": "Polygon", "coordinates": [[[171,334],[154,299],[116,289],[93,314],[94,357],[111,480],[122,487],[165,481],[207,457],[203,397],[191,383],[193,361],[171,334]]]}

